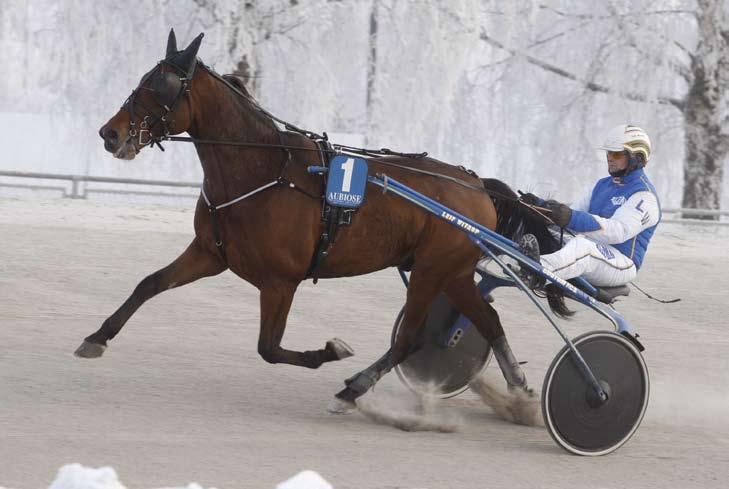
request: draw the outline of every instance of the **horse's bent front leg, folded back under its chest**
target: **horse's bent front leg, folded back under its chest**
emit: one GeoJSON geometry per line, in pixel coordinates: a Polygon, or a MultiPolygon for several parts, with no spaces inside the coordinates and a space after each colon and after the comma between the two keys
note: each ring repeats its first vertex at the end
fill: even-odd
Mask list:
{"type": "Polygon", "coordinates": [[[288,363],[319,368],[324,362],[351,357],[354,351],[344,341],[332,338],[321,350],[292,351],[281,348],[286,318],[298,284],[276,283],[261,287],[261,332],[258,353],[269,363],[288,363]]]}

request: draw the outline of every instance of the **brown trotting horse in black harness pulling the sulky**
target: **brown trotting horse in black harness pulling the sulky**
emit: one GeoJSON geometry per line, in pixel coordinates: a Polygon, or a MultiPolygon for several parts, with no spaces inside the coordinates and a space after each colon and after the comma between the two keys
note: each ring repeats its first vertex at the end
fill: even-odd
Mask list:
{"type": "MultiPolygon", "coordinates": [[[[304,352],[281,347],[294,293],[308,278],[322,233],[323,177],[308,173],[307,166],[319,164],[323,152],[306,133],[279,130],[242,83],[223,78],[200,62],[201,39],[202,34],[178,51],[171,31],[165,59],[142,78],[119,112],[99,131],[107,151],[127,160],[165,136],[187,132],[194,138],[205,174],[195,212],[195,238],[170,265],[142,280],[76,354],[101,356],[107,342],[145,301],[229,268],[260,291],[258,352],[264,360],[317,368],[350,356],[351,349],[338,339],[328,341],[322,349],[304,352]],[[221,143],[234,141],[249,144],[221,143]],[[209,206],[229,203],[257,189],[260,191],[217,211],[209,206]]],[[[386,173],[490,229],[497,224],[489,196],[468,188],[481,188],[482,182],[463,169],[430,158],[393,156],[368,158],[368,164],[371,173],[386,173]]],[[[416,348],[419,328],[441,291],[493,346],[509,386],[527,389],[498,314],[482,300],[474,284],[479,250],[446,222],[391,193],[369,187],[366,203],[351,225],[339,231],[317,275],[346,277],[406,266],[411,269],[410,285],[394,346],[345,382],[345,389],[337,394],[339,406],[353,407],[354,399],[416,348]]]]}

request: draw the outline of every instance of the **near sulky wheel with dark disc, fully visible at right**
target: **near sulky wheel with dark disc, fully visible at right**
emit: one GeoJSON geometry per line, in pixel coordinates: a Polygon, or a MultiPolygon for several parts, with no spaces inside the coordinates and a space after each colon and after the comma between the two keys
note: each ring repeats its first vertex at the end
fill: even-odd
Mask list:
{"type": "Polygon", "coordinates": [[[605,455],[638,429],[648,406],[648,369],[638,349],[618,333],[594,331],[573,343],[608,399],[599,401],[565,345],[544,378],[544,422],[554,441],[568,452],[605,455]]]}

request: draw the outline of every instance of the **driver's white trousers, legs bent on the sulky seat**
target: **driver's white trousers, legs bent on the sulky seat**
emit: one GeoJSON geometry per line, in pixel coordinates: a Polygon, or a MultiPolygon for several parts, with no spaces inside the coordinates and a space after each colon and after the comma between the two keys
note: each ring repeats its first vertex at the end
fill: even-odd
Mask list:
{"type": "Polygon", "coordinates": [[[564,247],[541,257],[542,266],[564,280],[582,276],[598,287],[625,285],[638,273],[633,260],[610,245],[577,235],[564,247]]]}

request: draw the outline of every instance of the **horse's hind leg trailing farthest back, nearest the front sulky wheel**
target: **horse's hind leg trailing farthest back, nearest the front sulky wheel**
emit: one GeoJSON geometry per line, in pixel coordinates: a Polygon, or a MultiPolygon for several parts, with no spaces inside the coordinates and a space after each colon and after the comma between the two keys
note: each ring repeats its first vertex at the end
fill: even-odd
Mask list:
{"type": "Polygon", "coordinates": [[[491,344],[496,361],[510,389],[529,391],[526,375],[506,341],[496,310],[481,298],[472,276],[458,278],[445,289],[448,299],[461,314],[466,316],[479,333],[491,344]]]}

